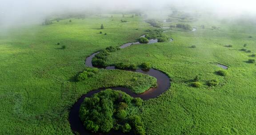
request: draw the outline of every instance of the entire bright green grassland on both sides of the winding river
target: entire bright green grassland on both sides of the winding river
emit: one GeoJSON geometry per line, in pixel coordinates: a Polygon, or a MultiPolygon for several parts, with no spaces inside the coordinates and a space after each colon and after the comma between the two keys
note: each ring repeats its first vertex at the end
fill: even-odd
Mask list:
{"type": "MultiPolygon", "coordinates": [[[[0,34],[0,134],[72,134],[69,108],[81,95],[99,87],[125,86],[136,91],[155,84],[147,75],[120,70],[100,70],[84,82],[73,81],[93,52],[133,42],[146,29],[153,29],[144,18],[127,15],[128,22],[121,23],[122,15],[110,16],[60,20],[0,34]],[[62,45],[66,48],[61,49],[62,45]]],[[[164,26],[175,23],[180,22],[164,26]]],[[[204,17],[187,24],[197,31],[165,32],[173,42],[134,45],[108,56],[108,64],[149,62],[172,79],[168,91],[142,106],[146,133],[255,134],[256,65],[246,62],[256,59],[250,56],[256,53],[254,24],[204,17]],[[200,28],[202,24],[205,29],[200,28]],[[212,26],[220,28],[212,30],[212,26]],[[232,48],[224,47],[228,44],[232,48]],[[228,75],[216,75],[221,69],[216,63],[227,65],[228,75]],[[200,88],[190,86],[196,75],[203,84],[200,88]],[[219,85],[205,85],[211,79],[219,80],[219,85]]]]}

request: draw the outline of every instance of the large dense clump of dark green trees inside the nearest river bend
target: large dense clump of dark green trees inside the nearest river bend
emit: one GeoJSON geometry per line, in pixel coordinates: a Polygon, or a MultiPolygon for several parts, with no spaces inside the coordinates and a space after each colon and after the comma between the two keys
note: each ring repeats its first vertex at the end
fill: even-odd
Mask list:
{"type": "MultiPolygon", "coordinates": [[[[79,116],[84,127],[92,132],[120,129],[121,124],[125,123],[121,128],[124,133],[133,128],[137,135],[145,135],[141,118],[134,115],[138,113],[138,109],[132,100],[131,96],[122,91],[106,89],[90,98],[85,98],[80,107],[79,116]]],[[[136,100],[143,102],[142,99],[136,100]]]]}

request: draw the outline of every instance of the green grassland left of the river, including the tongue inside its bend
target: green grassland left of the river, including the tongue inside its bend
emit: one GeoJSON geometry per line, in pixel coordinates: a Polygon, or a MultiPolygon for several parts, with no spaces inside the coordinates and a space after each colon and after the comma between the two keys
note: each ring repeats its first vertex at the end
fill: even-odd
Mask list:
{"type": "Polygon", "coordinates": [[[139,17],[126,17],[127,23],[120,22],[121,15],[92,16],[1,33],[0,134],[72,134],[69,108],[87,91],[110,86],[148,89],[155,84],[148,75],[118,70],[100,71],[92,81],[72,81],[83,71],[87,56],[135,41],[150,28],[139,17]],[[139,81],[133,83],[133,77],[139,81]]]}

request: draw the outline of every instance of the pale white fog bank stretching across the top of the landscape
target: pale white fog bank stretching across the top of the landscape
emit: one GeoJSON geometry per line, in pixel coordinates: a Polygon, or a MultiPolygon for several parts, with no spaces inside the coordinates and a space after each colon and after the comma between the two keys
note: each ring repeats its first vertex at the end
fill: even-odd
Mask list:
{"type": "Polygon", "coordinates": [[[221,16],[254,16],[253,0],[1,0],[0,25],[39,23],[52,14],[75,12],[127,12],[164,10],[173,7],[213,12],[221,16]]]}

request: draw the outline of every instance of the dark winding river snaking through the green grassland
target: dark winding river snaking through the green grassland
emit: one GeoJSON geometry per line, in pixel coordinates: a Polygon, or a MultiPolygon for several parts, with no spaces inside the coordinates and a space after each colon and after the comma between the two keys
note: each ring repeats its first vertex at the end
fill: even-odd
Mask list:
{"type": "MultiPolygon", "coordinates": [[[[145,35],[140,36],[140,37],[145,37],[145,35]]],[[[152,39],[152,40],[149,40],[149,42],[148,42],[148,44],[153,44],[153,43],[157,43],[157,39],[152,39]]],[[[123,44],[119,48],[126,48],[126,47],[134,45],[134,44],[140,44],[140,43],[139,42],[127,43],[127,44],[123,44]]],[[[95,52],[91,56],[86,58],[85,65],[87,67],[93,67],[92,58],[98,53],[99,52],[95,52]]],[[[116,68],[114,66],[109,66],[109,67],[106,67],[106,69],[114,70],[116,68]]],[[[156,69],[150,68],[147,71],[144,71],[141,69],[126,70],[126,71],[134,71],[134,72],[139,72],[142,74],[147,74],[147,75],[153,76],[157,79],[156,80],[157,86],[149,88],[147,91],[145,91],[144,93],[141,93],[141,94],[135,94],[132,92],[132,90],[130,90],[129,88],[126,88],[126,87],[108,87],[108,88],[111,88],[113,90],[120,90],[120,91],[127,93],[128,95],[130,95],[132,97],[140,97],[141,99],[147,100],[147,99],[156,98],[157,96],[162,94],[164,91],[167,91],[170,87],[169,77],[166,74],[164,74],[163,72],[158,71],[156,69]]],[[[78,101],[71,108],[68,119],[69,119],[71,129],[75,134],[78,133],[79,135],[127,135],[127,134],[122,133],[121,131],[114,131],[114,130],[111,130],[109,133],[92,133],[90,131],[87,131],[84,128],[84,125],[79,118],[79,109],[80,109],[81,104],[84,101],[84,98],[90,97],[93,94],[103,91],[105,89],[106,88],[100,88],[97,90],[89,91],[87,94],[81,96],[80,99],[78,99],[78,101]]],[[[128,134],[132,134],[132,132],[129,132],[128,134]]]]}

